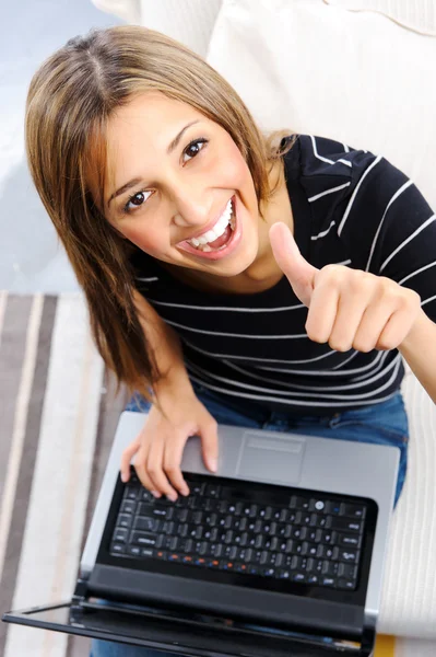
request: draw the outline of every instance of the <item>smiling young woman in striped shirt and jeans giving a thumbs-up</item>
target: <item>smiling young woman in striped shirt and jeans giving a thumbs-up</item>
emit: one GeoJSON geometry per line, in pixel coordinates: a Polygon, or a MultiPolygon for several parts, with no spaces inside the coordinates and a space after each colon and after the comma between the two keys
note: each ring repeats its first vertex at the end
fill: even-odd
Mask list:
{"type": "Polygon", "coordinates": [[[150,408],[123,481],[134,458],[156,497],[188,495],[188,437],[214,471],[226,423],[394,445],[397,503],[402,357],[436,401],[436,223],[404,174],[331,139],[264,136],[200,57],[135,26],[39,68],[26,145],[99,353],[129,408],[150,408]]]}

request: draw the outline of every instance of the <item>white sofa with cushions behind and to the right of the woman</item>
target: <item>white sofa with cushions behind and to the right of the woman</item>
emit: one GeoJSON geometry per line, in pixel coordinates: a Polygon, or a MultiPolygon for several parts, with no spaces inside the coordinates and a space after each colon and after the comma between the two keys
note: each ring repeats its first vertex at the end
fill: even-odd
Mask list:
{"type": "MultiPolygon", "coordinates": [[[[262,128],[384,154],[436,210],[434,0],[93,2],[207,57],[262,128]]],[[[403,394],[409,473],[391,526],[378,632],[420,638],[403,639],[396,654],[421,657],[436,655],[436,406],[409,367],[403,394]]]]}

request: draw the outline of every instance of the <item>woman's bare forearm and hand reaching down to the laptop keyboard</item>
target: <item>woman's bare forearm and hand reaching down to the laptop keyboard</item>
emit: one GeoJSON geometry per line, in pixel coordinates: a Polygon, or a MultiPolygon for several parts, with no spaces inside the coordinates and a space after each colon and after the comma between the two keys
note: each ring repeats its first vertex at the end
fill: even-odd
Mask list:
{"type": "Polygon", "coordinates": [[[153,404],[143,429],[123,451],[121,477],[129,480],[134,457],[137,474],[145,488],[156,497],[164,494],[176,500],[177,492],[189,494],[180,463],[190,436],[200,436],[204,463],[216,471],[217,426],[193,392],[176,333],[137,291],[134,301],[161,377],[154,384],[158,405],[153,404]]]}

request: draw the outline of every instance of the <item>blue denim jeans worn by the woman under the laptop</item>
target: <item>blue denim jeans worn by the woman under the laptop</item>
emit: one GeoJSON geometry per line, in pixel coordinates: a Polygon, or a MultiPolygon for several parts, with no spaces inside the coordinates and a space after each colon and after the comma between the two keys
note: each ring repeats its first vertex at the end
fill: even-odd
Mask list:
{"type": "MultiPolygon", "coordinates": [[[[394,506],[397,506],[405,480],[409,443],[408,416],[400,391],[380,404],[317,417],[267,411],[252,402],[234,401],[198,384],[193,384],[193,389],[198,399],[219,424],[398,447],[400,466],[394,498],[394,506]]],[[[150,404],[146,400],[133,395],[126,411],[145,412],[149,408],[150,404]]],[[[93,641],[90,657],[175,657],[175,655],[115,642],[93,641]]]]}

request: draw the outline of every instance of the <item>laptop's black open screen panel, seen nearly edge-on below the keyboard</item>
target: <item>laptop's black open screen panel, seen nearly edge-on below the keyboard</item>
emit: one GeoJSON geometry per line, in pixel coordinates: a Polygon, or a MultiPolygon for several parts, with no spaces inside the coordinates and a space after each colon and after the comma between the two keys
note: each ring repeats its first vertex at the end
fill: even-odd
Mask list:
{"type": "MultiPolygon", "coordinates": [[[[170,613],[170,612],[169,612],[170,613]]],[[[305,639],[268,631],[229,625],[225,619],[202,622],[200,616],[176,618],[152,608],[121,610],[117,603],[96,599],[60,602],[11,611],[7,623],[64,632],[102,641],[198,657],[370,657],[375,631],[366,627],[361,645],[353,642],[305,639]],[[219,646],[219,649],[217,647],[219,646]]]]}

